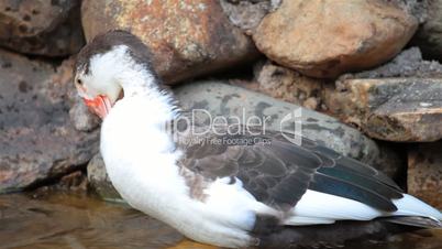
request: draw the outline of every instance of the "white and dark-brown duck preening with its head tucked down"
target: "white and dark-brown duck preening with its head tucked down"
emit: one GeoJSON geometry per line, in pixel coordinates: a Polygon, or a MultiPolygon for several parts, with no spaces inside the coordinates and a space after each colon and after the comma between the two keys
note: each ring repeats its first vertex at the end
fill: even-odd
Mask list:
{"type": "Polygon", "coordinates": [[[313,140],[184,122],[189,111],[152,58],[136,35],[112,30],[74,66],[78,95],[102,119],[106,170],[133,208],[223,248],[318,247],[385,232],[386,224],[442,227],[438,209],[313,140]],[[235,140],[247,142],[223,142],[235,140]]]}

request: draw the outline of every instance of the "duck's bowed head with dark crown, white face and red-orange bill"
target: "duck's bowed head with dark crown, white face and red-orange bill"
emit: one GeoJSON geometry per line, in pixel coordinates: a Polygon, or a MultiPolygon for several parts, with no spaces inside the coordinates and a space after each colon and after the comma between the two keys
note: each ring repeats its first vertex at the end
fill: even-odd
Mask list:
{"type": "Polygon", "coordinates": [[[143,42],[126,31],[96,36],[78,53],[74,84],[89,109],[104,118],[124,95],[156,88],[151,53],[143,42]]]}

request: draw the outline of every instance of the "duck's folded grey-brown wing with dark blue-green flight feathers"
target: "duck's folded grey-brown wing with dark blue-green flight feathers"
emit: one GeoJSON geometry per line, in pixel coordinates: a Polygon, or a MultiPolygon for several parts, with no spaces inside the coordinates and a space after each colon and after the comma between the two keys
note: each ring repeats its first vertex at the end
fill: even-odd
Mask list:
{"type": "Polygon", "coordinates": [[[177,139],[184,151],[180,166],[209,180],[241,180],[257,201],[281,210],[296,206],[308,190],[382,212],[397,210],[393,199],[402,197],[401,190],[382,172],[306,138],[298,145],[285,133],[272,131],[259,136],[195,133],[177,139]]]}

